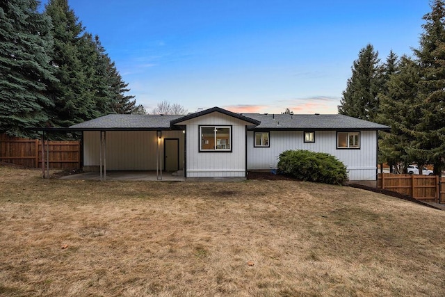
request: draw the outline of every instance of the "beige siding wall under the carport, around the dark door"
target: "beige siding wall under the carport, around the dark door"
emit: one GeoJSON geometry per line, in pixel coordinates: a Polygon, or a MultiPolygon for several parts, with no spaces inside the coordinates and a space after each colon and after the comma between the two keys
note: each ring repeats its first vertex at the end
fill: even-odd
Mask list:
{"type": "MultiPolygon", "coordinates": [[[[184,133],[162,131],[161,154],[164,138],[179,138],[179,168],[184,169],[184,133]]],[[[99,166],[100,132],[85,131],[84,170],[98,171],[99,166]]],[[[106,170],[156,170],[156,131],[106,131],[106,170]]]]}

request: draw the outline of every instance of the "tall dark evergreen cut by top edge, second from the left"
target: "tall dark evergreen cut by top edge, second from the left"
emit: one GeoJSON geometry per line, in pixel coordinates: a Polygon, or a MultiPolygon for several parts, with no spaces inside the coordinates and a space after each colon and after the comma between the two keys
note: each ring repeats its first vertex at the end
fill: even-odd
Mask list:
{"type": "Polygon", "coordinates": [[[83,26],[78,22],[67,0],[49,0],[45,13],[51,17],[54,54],[51,63],[56,67],[57,83],[51,84],[49,94],[54,102],[51,125],[68,127],[97,118],[90,79],[94,68],[91,45],[83,38],[83,26]]]}

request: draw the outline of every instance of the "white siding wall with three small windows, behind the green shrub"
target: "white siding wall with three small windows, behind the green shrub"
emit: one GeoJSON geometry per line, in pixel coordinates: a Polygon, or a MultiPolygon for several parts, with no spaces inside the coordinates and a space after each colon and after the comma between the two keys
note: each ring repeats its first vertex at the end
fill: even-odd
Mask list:
{"type": "Polygon", "coordinates": [[[337,149],[336,131],[315,131],[315,143],[303,141],[303,131],[270,131],[270,147],[254,147],[254,132],[248,131],[248,170],[277,168],[278,156],[285,150],[312,150],[336,156],[348,167],[350,180],[375,180],[377,173],[377,134],[360,131],[360,149],[337,149]]]}

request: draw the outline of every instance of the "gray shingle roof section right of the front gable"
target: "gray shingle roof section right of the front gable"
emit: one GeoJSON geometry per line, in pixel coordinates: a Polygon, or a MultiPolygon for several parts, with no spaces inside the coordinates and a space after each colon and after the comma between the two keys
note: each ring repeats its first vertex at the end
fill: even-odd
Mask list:
{"type": "Polygon", "coordinates": [[[347,115],[286,115],[286,114],[259,114],[243,113],[248,118],[261,122],[252,129],[314,129],[314,130],[386,130],[390,127],[375,122],[359,120],[347,115]]]}

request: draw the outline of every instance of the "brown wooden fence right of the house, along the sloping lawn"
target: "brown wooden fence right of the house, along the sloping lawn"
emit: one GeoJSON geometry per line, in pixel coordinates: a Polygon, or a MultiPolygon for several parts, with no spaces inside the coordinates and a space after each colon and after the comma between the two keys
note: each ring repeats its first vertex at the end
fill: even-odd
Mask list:
{"type": "Polygon", "coordinates": [[[379,173],[378,188],[410,195],[423,202],[445,202],[445,177],[379,173]]]}

